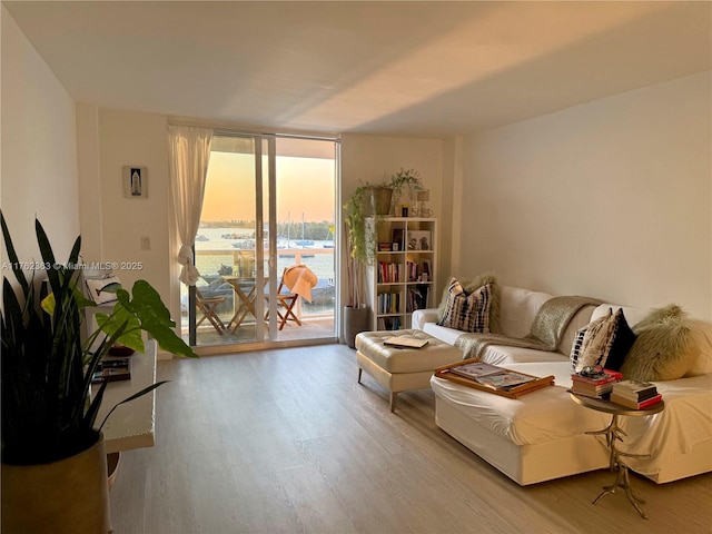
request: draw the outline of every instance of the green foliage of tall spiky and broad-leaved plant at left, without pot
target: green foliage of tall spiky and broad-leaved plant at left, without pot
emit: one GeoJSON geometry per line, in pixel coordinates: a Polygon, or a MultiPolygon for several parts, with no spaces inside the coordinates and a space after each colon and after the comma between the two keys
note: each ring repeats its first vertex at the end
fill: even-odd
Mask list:
{"type": "MultiPolygon", "coordinates": [[[[147,332],[167,352],[187,357],[197,355],[176,335],[170,313],[145,280],[138,280],[131,294],[118,289],[111,314],[97,314],[99,328],[82,340],[82,308],[95,303],[78,287],[81,237],[75,241],[67,263],[58,264],[42,225],[34,221],[49,281],[47,290],[36,280],[34,270],[28,280],[4,216],[1,222],[8,259],[21,291],[18,296],[3,278],[2,461],[26,465],[53,462],[96,442],[97,431],[103,425],[97,428],[96,419],[107,383],[91,398],[91,376],[111,345],[120,343],[142,353],[141,332],[147,332]]],[[[154,384],[122,403],[161,384],[154,384]]]]}

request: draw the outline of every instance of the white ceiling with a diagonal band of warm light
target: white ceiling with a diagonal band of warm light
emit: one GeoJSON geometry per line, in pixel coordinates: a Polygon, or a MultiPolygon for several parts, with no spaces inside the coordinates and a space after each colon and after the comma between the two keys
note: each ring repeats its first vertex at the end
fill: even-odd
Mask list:
{"type": "Polygon", "coordinates": [[[472,134],[712,66],[712,3],[3,1],[71,97],[277,131],[472,134]]]}

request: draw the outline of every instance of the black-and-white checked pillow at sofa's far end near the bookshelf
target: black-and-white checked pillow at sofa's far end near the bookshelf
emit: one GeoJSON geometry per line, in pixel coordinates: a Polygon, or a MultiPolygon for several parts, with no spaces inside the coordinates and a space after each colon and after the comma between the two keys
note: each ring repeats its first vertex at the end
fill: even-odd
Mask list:
{"type": "Polygon", "coordinates": [[[451,278],[445,314],[437,324],[463,332],[488,334],[492,291],[492,284],[485,284],[467,294],[456,278],[451,278]]]}

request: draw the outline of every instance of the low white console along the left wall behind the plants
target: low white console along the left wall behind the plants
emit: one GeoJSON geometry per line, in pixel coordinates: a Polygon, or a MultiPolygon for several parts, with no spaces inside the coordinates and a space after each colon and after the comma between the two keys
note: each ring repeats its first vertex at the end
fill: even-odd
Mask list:
{"type": "MultiPolygon", "coordinates": [[[[131,358],[131,379],[111,382],[103,392],[103,400],[97,416],[97,425],[100,425],[111,408],[121,400],[140,392],[156,382],[156,352],[155,339],[145,342],[146,354],[136,353],[131,358]]],[[[97,390],[99,385],[92,388],[97,390]]],[[[156,424],[156,389],[142,397],[122,404],[113,411],[111,417],[103,425],[103,441],[107,454],[132,448],[152,447],[155,444],[156,424]]]]}

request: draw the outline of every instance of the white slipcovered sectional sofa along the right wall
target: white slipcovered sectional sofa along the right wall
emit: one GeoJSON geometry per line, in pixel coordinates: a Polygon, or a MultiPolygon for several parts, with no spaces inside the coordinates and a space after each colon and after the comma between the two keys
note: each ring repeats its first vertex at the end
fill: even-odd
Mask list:
{"type": "MultiPolygon", "coordinates": [[[[552,295],[503,286],[500,325],[510,337],[524,337],[540,306],[552,295]]],[[[571,319],[556,352],[491,345],[482,359],[522,373],[555,377],[555,385],[517,399],[479,392],[433,376],[437,425],[521,485],[604,468],[602,437],[586,435],[610,423],[610,415],[571,399],[571,346],[575,332],[616,305],[585,306],[571,319]]],[[[645,310],[623,307],[634,326],[645,310]]],[[[437,309],[413,314],[413,328],[455,344],[463,333],[437,326],[437,309]]],[[[649,417],[620,417],[627,433],[619,449],[650,454],[626,458],[633,471],[665,483],[712,471],[712,325],[693,322],[699,355],[680,379],[656,382],[665,409],[649,417]]]]}

